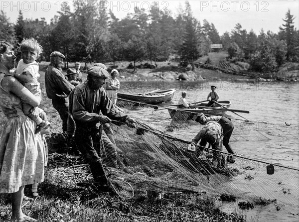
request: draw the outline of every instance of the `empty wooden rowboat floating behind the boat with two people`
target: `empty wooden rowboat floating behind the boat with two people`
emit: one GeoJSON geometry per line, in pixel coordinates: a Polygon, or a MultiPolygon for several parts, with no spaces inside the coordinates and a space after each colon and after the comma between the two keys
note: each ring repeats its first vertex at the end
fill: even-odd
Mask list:
{"type": "Polygon", "coordinates": [[[117,97],[124,100],[130,100],[145,104],[160,104],[172,100],[175,90],[155,90],[149,93],[126,94],[118,93],[117,97]]]}

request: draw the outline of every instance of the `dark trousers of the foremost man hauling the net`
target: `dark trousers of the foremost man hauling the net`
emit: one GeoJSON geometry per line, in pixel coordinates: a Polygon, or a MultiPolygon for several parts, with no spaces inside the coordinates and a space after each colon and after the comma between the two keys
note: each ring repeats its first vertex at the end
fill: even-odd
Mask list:
{"type": "Polygon", "coordinates": [[[77,127],[75,142],[90,167],[94,181],[101,183],[101,185],[107,185],[108,179],[103,168],[102,159],[97,152],[97,150],[100,150],[101,135],[102,130],[95,127],[77,127]]]}

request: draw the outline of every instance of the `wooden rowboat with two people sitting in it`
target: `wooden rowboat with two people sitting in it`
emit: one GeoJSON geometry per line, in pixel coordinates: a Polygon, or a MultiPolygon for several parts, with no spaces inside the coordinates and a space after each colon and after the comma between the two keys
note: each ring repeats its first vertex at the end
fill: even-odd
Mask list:
{"type": "MultiPolygon", "coordinates": [[[[230,101],[219,101],[222,106],[229,108],[231,106],[230,101]]],[[[208,102],[196,104],[196,106],[205,107],[208,102]]],[[[215,107],[212,107],[214,109],[211,109],[209,107],[207,108],[195,108],[195,109],[171,109],[167,108],[168,112],[170,114],[170,117],[174,121],[188,121],[188,120],[195,120],[198,113],[202,112],[204,114],[208,115],[223,115],[226,113],[226,109],[223,107],[220,107],[219,105],[215,105],[215,107]]]]}

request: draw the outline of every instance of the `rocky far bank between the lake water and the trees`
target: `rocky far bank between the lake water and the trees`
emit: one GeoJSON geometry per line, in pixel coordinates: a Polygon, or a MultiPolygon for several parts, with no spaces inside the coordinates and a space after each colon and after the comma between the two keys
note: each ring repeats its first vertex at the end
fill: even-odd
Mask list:
{"type": "Polygon", "coordinates": [[[120,81],[209,81],[209,80],[251,80],[251,81],[297,81],[299,65],[291,69],[284,67],[276,73],[257,73],[247,70],[235,70],[208,64],[197,64],[194,71],[190,67],[166,66],[155,69],[120,69],[120,81]]]}

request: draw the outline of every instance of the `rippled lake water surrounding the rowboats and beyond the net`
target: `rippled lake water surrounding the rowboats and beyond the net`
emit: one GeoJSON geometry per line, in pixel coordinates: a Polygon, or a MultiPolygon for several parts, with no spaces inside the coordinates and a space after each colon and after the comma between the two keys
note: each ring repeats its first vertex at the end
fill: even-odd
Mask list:
{"type": "MultiPolygon", "coordinates": [[[[189,103],[206,100],[210,86],[217,87],[219,101],[229,100],[230,109],[253,122],[227,112],[235,125],[231,145],[235,152],[248,158],[299,169],[299,84],[297,82],[250,82],[250,81],[154,81],[122,82],[122,93],[143,93],[156,89],[175,89],[173,100],[177,104],[181,92],[186,91],[189,103]],[[290,126],[287,126],[290,124],[290,126]]],[[[153,128],[165,131],[171,118],[167,111],[141,108],[129,111],[135,119],[146,122],[153,128]]],[[[174,131],[167,131],[177,138],[191,140],[202,126],[198,123],[182,124],[174,131]]],[[[224,149],[224,151],[226,151],[224,149]]],[[[299,200],[298,200],[299,201],[299,200]]],[[[289,206],[290,207],[290,206],[289,206]]],[[[247,221],[299,221],[298,206],[276,212],[273,205],[246,211],[247,221]]],[[[225,212],[234,212],[231,203],[222,204],[225,212]]],[[[244,212],[243,212],[244,213],[244,212]]]]}

